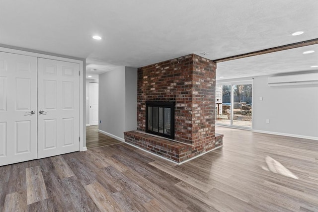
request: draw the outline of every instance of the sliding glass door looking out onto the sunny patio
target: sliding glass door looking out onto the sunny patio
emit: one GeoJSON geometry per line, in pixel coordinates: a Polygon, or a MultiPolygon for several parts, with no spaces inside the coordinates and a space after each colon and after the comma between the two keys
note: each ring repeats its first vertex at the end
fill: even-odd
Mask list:
{"type": "Polygon", "coordinates": [[[216,124],[252,128],[252,83],[216,87],[216,124]]]}

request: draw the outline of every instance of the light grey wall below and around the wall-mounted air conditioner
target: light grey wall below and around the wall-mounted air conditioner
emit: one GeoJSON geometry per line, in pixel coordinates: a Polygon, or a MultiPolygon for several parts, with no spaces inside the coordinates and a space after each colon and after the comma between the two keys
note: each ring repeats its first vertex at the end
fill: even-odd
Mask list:
{"type": "MultiPolygon", "coordinates": [[[[281,75],[288,74],[296,72],[281,75]]],[[[268,76],[272,75],[253,77],[253,131],[318,139],[318,85],[269,87],[268,76]]],[[[247,79],[251,78],[218,80],[217,83],[247,79]]]]}

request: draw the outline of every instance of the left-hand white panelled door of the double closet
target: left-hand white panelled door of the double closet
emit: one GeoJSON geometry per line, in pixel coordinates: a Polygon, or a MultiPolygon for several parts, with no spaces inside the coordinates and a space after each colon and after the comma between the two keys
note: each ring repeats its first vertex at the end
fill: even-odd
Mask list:
{"type": "Polygon", "coordinates": [[[0,52],[0,166],[37,157],[36,72],[36,57],[0,52]]]}

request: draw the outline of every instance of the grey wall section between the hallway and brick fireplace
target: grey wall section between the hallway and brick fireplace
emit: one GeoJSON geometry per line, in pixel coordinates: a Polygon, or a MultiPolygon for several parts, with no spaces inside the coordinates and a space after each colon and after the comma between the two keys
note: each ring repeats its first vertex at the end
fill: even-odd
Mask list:
{"type": "Polygon", "coordinates": [[[99,130],[121,139],[137,127],[137,69],[119,67],[99,75],[99,130]]]}

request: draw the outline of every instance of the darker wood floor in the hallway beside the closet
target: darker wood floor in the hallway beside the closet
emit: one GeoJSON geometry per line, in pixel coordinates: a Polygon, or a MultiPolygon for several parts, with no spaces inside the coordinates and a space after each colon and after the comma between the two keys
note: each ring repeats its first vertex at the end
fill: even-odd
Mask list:
{"type": "Polygon", "coordinates": [[[100,146],[112,145],[120,143],[116,139],[113,139],[105,134],[98,132],[98,125],[86,127],[86,148],[91,149],[100,146]]]}

